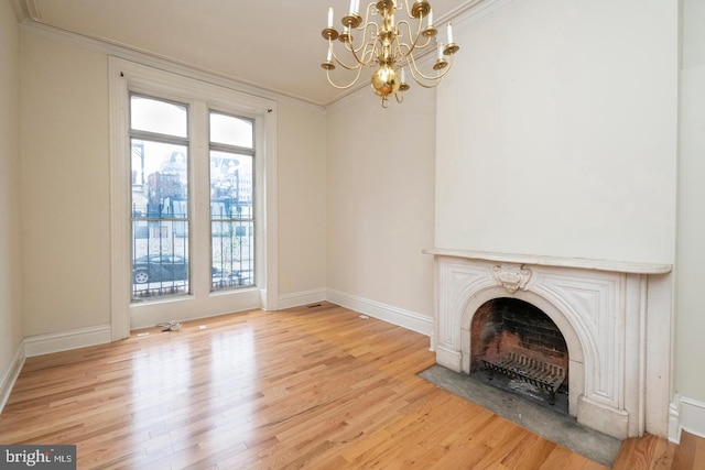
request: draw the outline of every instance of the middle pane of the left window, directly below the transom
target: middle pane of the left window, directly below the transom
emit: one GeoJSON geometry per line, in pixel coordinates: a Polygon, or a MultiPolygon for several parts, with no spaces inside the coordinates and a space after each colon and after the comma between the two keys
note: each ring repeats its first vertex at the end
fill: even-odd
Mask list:
{"type": "Polygon", "coordinates": [[[188,217],[188,149],[132,139],[132,217],[188,217]]]}

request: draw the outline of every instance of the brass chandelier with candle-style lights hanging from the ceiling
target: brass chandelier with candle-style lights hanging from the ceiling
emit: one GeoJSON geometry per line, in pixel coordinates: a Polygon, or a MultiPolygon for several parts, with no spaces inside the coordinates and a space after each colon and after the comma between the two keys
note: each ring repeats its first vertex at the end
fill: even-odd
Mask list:
{"type": "MultiPolygon", "coordinates": [[[[337,89],[348,89],[360,78],[362,67],[377,67],[370,79],[372,90],[380,97],[383,108],[387,108],[390,95],[398,102],[404,99],[404,91],[410,87],[406,83],[406,69],[413,80],[424,88],[433,88],[448,73],[453,65],[453,55],[459,47],[453,42],[453,26],[447,25],[447,42],[436,42],[438,30],[433,24],[433,11],[426,0],[415,0],[411,9],[409,0],[403,6],[397,6],[395,0],[379,0],[367,6],[365,21],[360,15],[360,1],[350,0],[349,12],[343,17],[343,31],[333,26],[333,8],[328,10],[328,24],[321,33],[328,41],[328,55],[321,66],[326,70],[328,83],[337,89]],[[406,10],[409,19],[395,22],[394,14],[406,10]],[[372,17],[381,17],[375,22],[372,17]],[[372,20],[370,20],[372,19],[372,20]],[[424,22],[424,19],[426,20],[424,22]],[[425,23],[425,28],[424,28],[425,23]],[[334,42],[338,40],[345,45],[347,55],[352,61],[344,62],[334,51],[334,42]],[[435,46],[435,47],[430,47],[435,46]],[[422,72],[419,57],[427,52],[437,50],[433,70],[422,72]],[[446,61],[446,57],[449,61],[446,61]],[[351,81],[338,85],[330,77],[330,70],[336,64],[347,70],[352,70],[351,81]]],[[[429,67],[431,68],[431,67],[429,67]]]]}

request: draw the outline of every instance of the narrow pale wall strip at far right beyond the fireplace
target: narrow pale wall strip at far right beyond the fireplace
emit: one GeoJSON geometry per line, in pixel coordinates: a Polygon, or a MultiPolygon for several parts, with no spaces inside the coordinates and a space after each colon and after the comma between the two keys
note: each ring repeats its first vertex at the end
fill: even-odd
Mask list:
{"type": "Polygon", "coordinates": [[[675,392],[705,402],[705,2],[683,1],[675,392]],[[695,359],[697,358],[697,359],[695,359]]]}

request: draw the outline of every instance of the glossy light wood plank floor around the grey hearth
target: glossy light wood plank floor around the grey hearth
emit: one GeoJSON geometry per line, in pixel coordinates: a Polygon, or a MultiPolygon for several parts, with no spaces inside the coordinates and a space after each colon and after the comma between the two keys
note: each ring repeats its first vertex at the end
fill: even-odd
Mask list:
{"type": "MultiPolygon", "coordinates": [[[[326,303],[210,318],[28,359],[0,442],[75,444],[79,469],[604,469],[416,376],[433,363],[326,303]]],[[[631,439],[614,468],[704,469],[704,440],[631,439]]]]}

